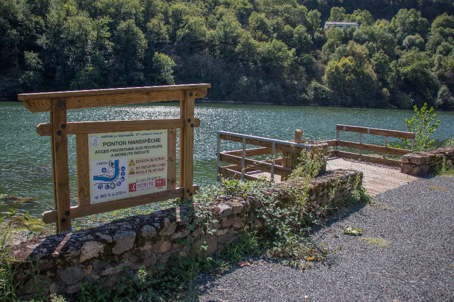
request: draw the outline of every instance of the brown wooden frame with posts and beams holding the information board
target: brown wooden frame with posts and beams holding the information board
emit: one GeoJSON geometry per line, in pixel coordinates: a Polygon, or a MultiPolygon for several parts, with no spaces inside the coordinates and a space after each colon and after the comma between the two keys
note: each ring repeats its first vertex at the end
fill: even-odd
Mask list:
{"type": "Polygon", "coordinates": [[[71,219],[173,198],[192,202],[194,101],[205,97],[210,84],[170,85],[19,94],[31,112],[50,112],[50,123],[39,124],[37,133],[50,136],[55,209],[42,213],[44,223],[56,222],[57,232],[71,231],[71,219]],[[68,122],[67,110],[112,105],[180,101],[179,119],[68,122]],[[177,128],[180,129],[180,177],[176,187],[177,128]],[[90,204],[88,134],[167,129],[167,189],[151,194],[90,204]],[[76,135],[78,205],[70,205],[68,135],[76,135]]]}

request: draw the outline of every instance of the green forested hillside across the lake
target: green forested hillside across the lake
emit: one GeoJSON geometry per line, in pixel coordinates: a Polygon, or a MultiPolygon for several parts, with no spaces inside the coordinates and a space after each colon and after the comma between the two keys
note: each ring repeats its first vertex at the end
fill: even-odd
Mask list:
{"type": "Polygon", "coordinates": [[[0,99],[211,83],[213,101],[454,109],[453,13],[453,0],[1,0],[0,99]]]}

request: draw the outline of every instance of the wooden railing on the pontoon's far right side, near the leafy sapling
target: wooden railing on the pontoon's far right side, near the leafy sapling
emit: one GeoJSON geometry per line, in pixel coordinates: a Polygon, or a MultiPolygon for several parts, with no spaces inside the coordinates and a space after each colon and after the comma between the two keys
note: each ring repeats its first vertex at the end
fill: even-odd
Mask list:
{"type": "Polygon", "coordinates": [[[388,155],[396,155],[396,156],[403,156],[409,153],[413,153],[414,144],[415,144],[415,133],[414,132],[406,132],[406,131],[395,131],[395,130],[386,130],[386,129],[377,129],[377,128],[367,128],[367,127],[358,127],[358,126],[349,126],[349,125],[336,125],[336,139],[325,141],[329,142],[329,145],[334,146],[334,154],[336,157],[342,158],[349,158],[354,160],[362,160],[365,162],[371,162],[376,164],[384,164],[388,166],[400,167],[401,161],[396,161],[392,159],[386,158],[379,158],[373,157],[368,155],[361,154],[361,150],[367,150],[370,152],[377,152],[381,154],[388,154],[388,155]],[[347,131],[347,132],[357,132],[359,133],[359,142],[353,141],[346,141],[346,140],[339,140],[339,131],[347,131]],[[372,135],[381,135],[384,136],[384,143],[383,146],[374,145],[374,144],[367,144],[362,143],[362,135],[363,134],[372,134],[372,135]],[[400,148],[392,148],[387,147],[387,137],[396,137],[396,138],[405,138],[412,141],[412,149],[400,149],[400,148]],[[349,147],[358,149],[358,154],[339,151],[337,150],[337,146],[342,147],[349,147]]]}

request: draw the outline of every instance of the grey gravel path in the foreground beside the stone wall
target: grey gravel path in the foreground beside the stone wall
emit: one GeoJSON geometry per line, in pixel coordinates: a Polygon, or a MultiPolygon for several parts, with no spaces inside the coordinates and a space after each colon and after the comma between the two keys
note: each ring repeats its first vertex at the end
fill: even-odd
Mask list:
{"type": "Polygon", "coordinates": [[[199,301],[453,301],[454,178],[435,177],[376,197],[332,217],[313,234],[330,255],[301,271],[276,262],[201,276],[199,301]],[[381,248],[343,234],[390,241],[381,248]],[[342,246],[342,250],[333,252],[342,246]]]}

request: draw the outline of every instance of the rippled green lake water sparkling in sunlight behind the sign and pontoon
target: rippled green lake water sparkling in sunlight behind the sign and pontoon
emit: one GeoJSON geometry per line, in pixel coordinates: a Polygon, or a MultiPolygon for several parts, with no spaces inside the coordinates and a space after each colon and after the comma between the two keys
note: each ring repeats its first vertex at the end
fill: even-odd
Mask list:
{"type": "MultiPolygon", "coordinates": [[[[179,103],[112,106],[68,111],[68,121],[179,118],[179,103]]],[[[310,139],[335,139],[335,125],[347,124],[406,130],[411,110],[289,107],[198,103],[195,116],[201,119],[194,138],[194,183],[215,182],[217,131],[231,131],[277,139],[293,139],[303,129],[310,139]]],[[[434,138],[454,136],[454,112],[437,112],[441,120],[434,138]]],[[[35,202],[0,204],[0,212],[14,207],[38,217],[52,208],[50,138],[36,134],[38,123],[49,113],[31,113],[21,102],[0,102],[0,194],[34,197],[35,202]]],[[[358,141],[358,133],[341,133],[340,138],[358,141]]],[[[390,140],[388,139],[388,142],[390,140]]],[[[363,135],[363,142],[382,144],[383,137],[363,135]]],[[[223,143],[222,149],[233,145],[223,143]]],[[[72,204],[77,204],[75,136],[69,136],[69,166],[72,204]]]]}

